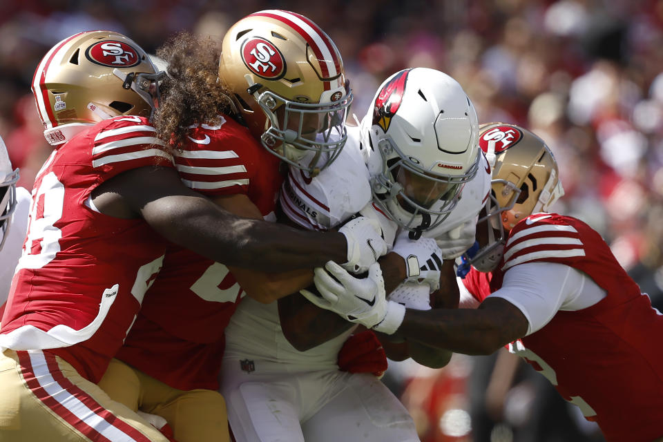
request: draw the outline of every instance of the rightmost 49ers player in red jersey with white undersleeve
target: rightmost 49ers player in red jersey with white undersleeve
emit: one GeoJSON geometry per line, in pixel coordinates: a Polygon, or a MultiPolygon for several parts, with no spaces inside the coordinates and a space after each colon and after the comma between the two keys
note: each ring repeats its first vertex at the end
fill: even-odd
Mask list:
{"type": "MultiPolygon", "coordinates": [[[[595,421],[606,440],[662,440],[663,356],[652,336],[663,334],[663,316],[596,231],[548,213],[564,191],[543,140],[492,123],[479,142],[494,165],[499,203],[491,211],[497,217],[488,218],[492,238],[470,260],[465,278],[481,304],[408,309],[393,331],[465,354],[508,345],[595,421]]],[[[482,236],[488,238],[479,229],[482,236]]],[[[329,287],[343,296],[338,282],[329,287]]]]}

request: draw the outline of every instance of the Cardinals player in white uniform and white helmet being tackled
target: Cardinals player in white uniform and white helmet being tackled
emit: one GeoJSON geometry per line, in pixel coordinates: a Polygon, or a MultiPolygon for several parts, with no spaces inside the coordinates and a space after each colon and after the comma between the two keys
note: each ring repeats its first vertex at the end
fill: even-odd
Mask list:
{"type": "MultiPolygon", "coordinates": [[[[474,108],[448,75],[407,69],[392,75],[376,93],[367,124],[361,128],[361,146],[359,132],[358,127],[349,129],[345,148],[319,175],[311,178],[291,166],[280,207],[293,224],[309,230],[337,228],[356,213],[372,216],[383,225],[390,244],[400,227],[404,236],[396,239],[396,253],[388,253],[369,274],[395,277],[395,284],[385,282],[393,288],[408,277],[406,263],[413,283],[428,276],[425,269],[430,266],[434,278],[426,282],[434,285],[444,256],[434,239],[423,237],[440,232],[436,229],[457,205],[463,184],[477,176],[483,155],[474,108]],[[366,150],[370,171],[365,166],[366,150]],[[410,240],[410,232],[422,238],[410,240]],[[386,258],[395,258],[401,266],[385,262],[386,258]]],[[[303,156],[300,164],[309,164],[312,157],[313,153],[303,156]]],[[[483,183],[481,198],[488,191],[489,177],[483,183]]],[[[453,276],[452,272],[450,282],[455,285],[453,276]]],[[[390,303],[430,309],[431,290],[426,284],[423,289],[425,301],[399,288],[392,294],[398,299],[390,303]]],[[[453,300],[436,295],[432,295],[435,303],[453,305],[453,300]]],[[[366,302],[373,300],[367,296],[358,304],[366,302]]],[[[243,300],[226,329],[220,378],[237,440],[418,441],[407,410],[370,373],[379,366],[377,361],[351,372],[339,371],[339,352],[354,332],[352,323],[298,295],[270,305],[243,300]]],[[[365,338],[356,336],[360,335],[365,338]]],[[[349,342],[365,345],[369,340],[349,342]]],[[[413,353],[430,361],[424,352],[413,349],[413,353]]],[[[441,353],[438,363],[443,365],[448,352],[441,353]]]]}

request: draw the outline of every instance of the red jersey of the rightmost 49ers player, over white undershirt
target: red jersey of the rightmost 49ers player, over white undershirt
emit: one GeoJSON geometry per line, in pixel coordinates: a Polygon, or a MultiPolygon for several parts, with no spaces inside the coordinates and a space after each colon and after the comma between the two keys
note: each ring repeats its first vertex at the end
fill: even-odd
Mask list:
{"type": "MultiPolygon", "coordinates": [[[[606,297],[586,309],[557,311],[538,332],[509,345],[596,421],[608,441],[663,436],[663,316],[619,265],[608,244],[582,221],[537,213],[510,232],[504,258],[490,280],[524,262],[557,262],[586,273],[606,297]]],[[[473,270],[476,272],[476,270],[473,270]]],[[[478,273],[478,272],[477,272],[478,273]]],[[[486,276],[468,290],[486,297],[486,276]]]]}

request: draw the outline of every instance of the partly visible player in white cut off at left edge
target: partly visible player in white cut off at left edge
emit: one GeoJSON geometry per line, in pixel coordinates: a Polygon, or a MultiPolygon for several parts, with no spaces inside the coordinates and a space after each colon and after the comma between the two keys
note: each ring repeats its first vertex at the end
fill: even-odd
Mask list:
{"type": "Polygon", "coordinates": [[[0,138],[0,318],[28,228],[30,192],[17,187],[18,180],[19,169],[12,169],[7,147],[0,138]]]}

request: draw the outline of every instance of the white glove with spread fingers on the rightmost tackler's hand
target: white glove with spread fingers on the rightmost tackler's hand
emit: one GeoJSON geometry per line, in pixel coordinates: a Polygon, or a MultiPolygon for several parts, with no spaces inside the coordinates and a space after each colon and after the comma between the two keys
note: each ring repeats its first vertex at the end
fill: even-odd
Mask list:
{"type": "Polygon", "coordinates": [[[378,263],[369,267],[366,278],[356,278],[329,261],[325,269],[315,269],[314,282],[322,297],[308,290],[300,293],[318,307],[334,311],[352,323],[392,334],[403,322],[405,307],[387,301],[378,263]]]}

